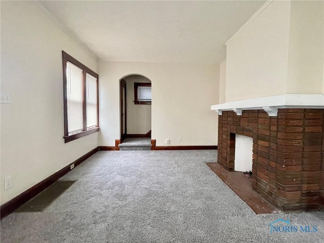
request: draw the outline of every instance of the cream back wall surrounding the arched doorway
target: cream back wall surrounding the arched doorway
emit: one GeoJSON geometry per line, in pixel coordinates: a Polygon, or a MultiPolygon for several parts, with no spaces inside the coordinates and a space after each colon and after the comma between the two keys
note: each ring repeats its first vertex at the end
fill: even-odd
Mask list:
{"type": "Polygon", "coordinates": [[[219,99],[218,66],[102,61],[99,74],[100,146],[114,146],[119,139],[119,79],[129,74],[152,82],[152,139],[157,146],[166,146],[167,138],[172,146],[217,144],[217,114],[210,105],[219,99]]]}

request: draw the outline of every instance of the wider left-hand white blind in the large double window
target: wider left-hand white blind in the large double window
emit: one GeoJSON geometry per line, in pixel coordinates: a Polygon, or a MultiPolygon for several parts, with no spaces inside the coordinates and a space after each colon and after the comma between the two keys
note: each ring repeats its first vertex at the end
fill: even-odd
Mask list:
{"type": "Polygon", "coordinates": [[[83,129],[83,70],[66,63],[68,133],[83,129]]]}

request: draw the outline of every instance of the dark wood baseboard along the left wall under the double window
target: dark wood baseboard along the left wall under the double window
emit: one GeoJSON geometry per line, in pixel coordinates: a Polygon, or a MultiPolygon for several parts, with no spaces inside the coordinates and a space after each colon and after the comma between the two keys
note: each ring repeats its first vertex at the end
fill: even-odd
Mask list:
{"type": "Polygon", "coordinates": [[[7,215],[11,214],[12,212],[14,212],[21,205],[26,203],[28,200],[30,200],[31,198],[36,196],[39,192],[42,192],[43,190],[48,188],[50,185],[52,185],[54,182],[56,182],[59,178],[64,176],[66,173],[68,173],[70,171],[70,166],[72,164],[74,164],[74,167],[78,166],[83,161],[85,161],[87,158],[89,158],[90,156],[95,154],[98,151],[98,149],[99,148],[96,147],[95,149],[93,149],[90,152],[86,153],[85,155],[79,157],[78,159],[76,159],[75,161],[73,161],[72,163],[67,165],[66,167],[62,168],[58,172],[54,173],[53,175],[49,176],[48,178],[44,179],[43,181],[38,182],[36,185],[30,187],[29,189],[22,192],[18,196],[14,197],[7,203],[3,204],[0,209],[1,219],[6,217],[7,215]]]}

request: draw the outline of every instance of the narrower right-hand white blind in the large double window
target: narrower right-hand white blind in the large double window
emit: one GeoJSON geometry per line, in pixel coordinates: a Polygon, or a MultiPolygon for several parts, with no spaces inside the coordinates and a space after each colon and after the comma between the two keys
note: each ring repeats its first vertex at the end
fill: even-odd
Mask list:
{"type": "Polygon", "coordinates": [[[97,78],[87,73],[87,128],[97,126],[97,78]]]}

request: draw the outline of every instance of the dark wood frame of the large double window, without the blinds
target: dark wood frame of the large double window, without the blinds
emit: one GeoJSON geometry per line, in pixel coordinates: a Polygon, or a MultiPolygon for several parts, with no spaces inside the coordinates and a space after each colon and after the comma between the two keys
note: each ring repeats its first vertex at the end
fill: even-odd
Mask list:
{"type": "Polygon", "coordinates": [[[77,61],[75,58],[71,57],[66,52],[62,51],[62,60],[63,60],[63,96],[64,96],[64,141],[65,143],[72,140],[78,139],[80,137],[87,136],[89,134],[99,131],[99,87],[98,80],[99,76],[96,72],[92,71],[90,68],[84,64],[77,61]],[[83,70],[83,130],[69,135],[68,132],[68,116],[67,116],[67,77],[66,77],[66,63],[70,62],[75,66],[83,70]],[[86,80],[87,73],[91,74],[97,78],[97,126],[95,128],[87,129],[87,91],[86,91],[86,80]]]}

